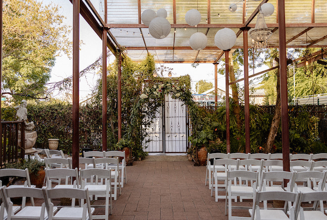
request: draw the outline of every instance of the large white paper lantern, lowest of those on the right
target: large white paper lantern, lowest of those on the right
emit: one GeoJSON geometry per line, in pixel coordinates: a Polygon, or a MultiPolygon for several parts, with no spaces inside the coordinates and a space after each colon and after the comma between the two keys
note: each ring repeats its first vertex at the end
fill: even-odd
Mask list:
{"type": "Polygon", "coordinates": [[[215,45],[223,51],[231,49],[236,42],[236,34],[229,28],[217,31],[215,35],[215,45]]]}

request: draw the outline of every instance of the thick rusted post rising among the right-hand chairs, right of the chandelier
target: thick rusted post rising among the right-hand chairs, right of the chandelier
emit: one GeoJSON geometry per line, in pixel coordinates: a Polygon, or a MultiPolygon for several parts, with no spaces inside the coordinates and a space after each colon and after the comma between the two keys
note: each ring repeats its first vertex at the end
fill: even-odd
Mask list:
{"type": "Polygon", "coordinates": [[[281,110],[281,144],[283,152],[283,170],[289,171],[289,131],[287,104],[287,63],[285,35],[285,4],[278,0],[278,32],[279,32],[279,75],[280,75],[280,110],[281,110]]]}

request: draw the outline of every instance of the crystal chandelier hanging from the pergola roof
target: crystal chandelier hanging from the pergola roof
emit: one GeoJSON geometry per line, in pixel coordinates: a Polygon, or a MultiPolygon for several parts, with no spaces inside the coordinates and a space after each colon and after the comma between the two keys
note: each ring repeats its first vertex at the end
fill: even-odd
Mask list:
{"type": "Polygon", "coordinates": [[[267,48],[267,40],[272,36],[272,31],[267,27],[264,13],[260,10],[257,18],[256,26],[249,31],[252,38],[254,48],[267,48]]]}

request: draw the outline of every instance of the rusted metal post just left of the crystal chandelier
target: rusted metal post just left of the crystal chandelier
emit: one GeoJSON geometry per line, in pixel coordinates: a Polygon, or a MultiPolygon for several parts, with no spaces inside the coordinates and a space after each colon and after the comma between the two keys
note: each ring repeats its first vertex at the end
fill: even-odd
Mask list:
{"type": "Polygon", "coordinates": [[[251,153],[250,148],[250,104],[249,104],[249,60],[248,60],[248,30],[249,27],[241,28],[243,31],[244,53],[244,117],[245,117],[245,153],[251,153]]]}

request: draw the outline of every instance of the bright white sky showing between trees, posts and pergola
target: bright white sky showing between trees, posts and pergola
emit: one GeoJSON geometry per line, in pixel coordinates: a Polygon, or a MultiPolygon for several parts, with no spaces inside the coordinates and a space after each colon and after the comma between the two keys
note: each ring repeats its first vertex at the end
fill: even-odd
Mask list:
{"type": "MultiPolygon", "coordinates": [[[[39,0],[44,4],[54,3],[60,5],[61,8],[59,13],[66,17],[64,23],[72,27],[72,3],[69,0],[39,0]]],[[[98,8],[98,0],[91,0],[95,8],[98,8]]],[[[72,33],[70,35],[72,40],[72,33]]],[[[80,40],[83,44],[80,46],[80,62],[79,70],[85,69],[87,66],[92,64],[102,54],[102,40],[87,24],[84,18],[80,15],[80,40]]],[[[114,60],[114,56],[109,57],[109,62],[114,60]]],[[[215,85],[215,74],[214,64],[212,63],[200,63],[197,68],[191,66],[190,63],[178,63],[178,64],[167,64],[164,66],[173,68],[172,77],[182,76],[189,74],[192,79],[192,93],[195,93],[195,84],[203,79],[207,82],[212,82],[215,85]]],[[[60,81],[66,77],[72,75],[72,59],[66,55],[62,55],[56,58],[55,65],[51,72],[51,82],[60,81]]],[[[88,73],[86,77],[80,78],[79,84],[79,96],[80,102],[90,97],[92,90],[96,86],[96,82],[101,78],[101,74],[88,73]]],[[[224,75],[218,74],[218,88],[225,90],[225,77],[224,75]]],[[[63,94],[57,94],[54,92],[54,98],[61,98],[63,94]]]]}

